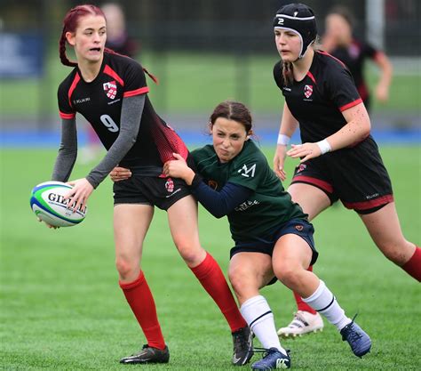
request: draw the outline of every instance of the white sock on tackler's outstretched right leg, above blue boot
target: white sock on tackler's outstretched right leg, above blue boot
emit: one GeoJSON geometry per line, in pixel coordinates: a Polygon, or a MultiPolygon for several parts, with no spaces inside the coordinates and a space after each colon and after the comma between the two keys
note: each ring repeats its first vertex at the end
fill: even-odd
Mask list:
{"type": "Polygon", "coordinates": [[[316,291],[306,299],[303,298],[303,301],[310,305],[314,311],[318,311],[326,317],[339,331],[346,327],[348,323],[351,323],[351,319],[346,317],[345,311],[340,307],[336,297],[326,287],[322,279],[316,291]]]}

